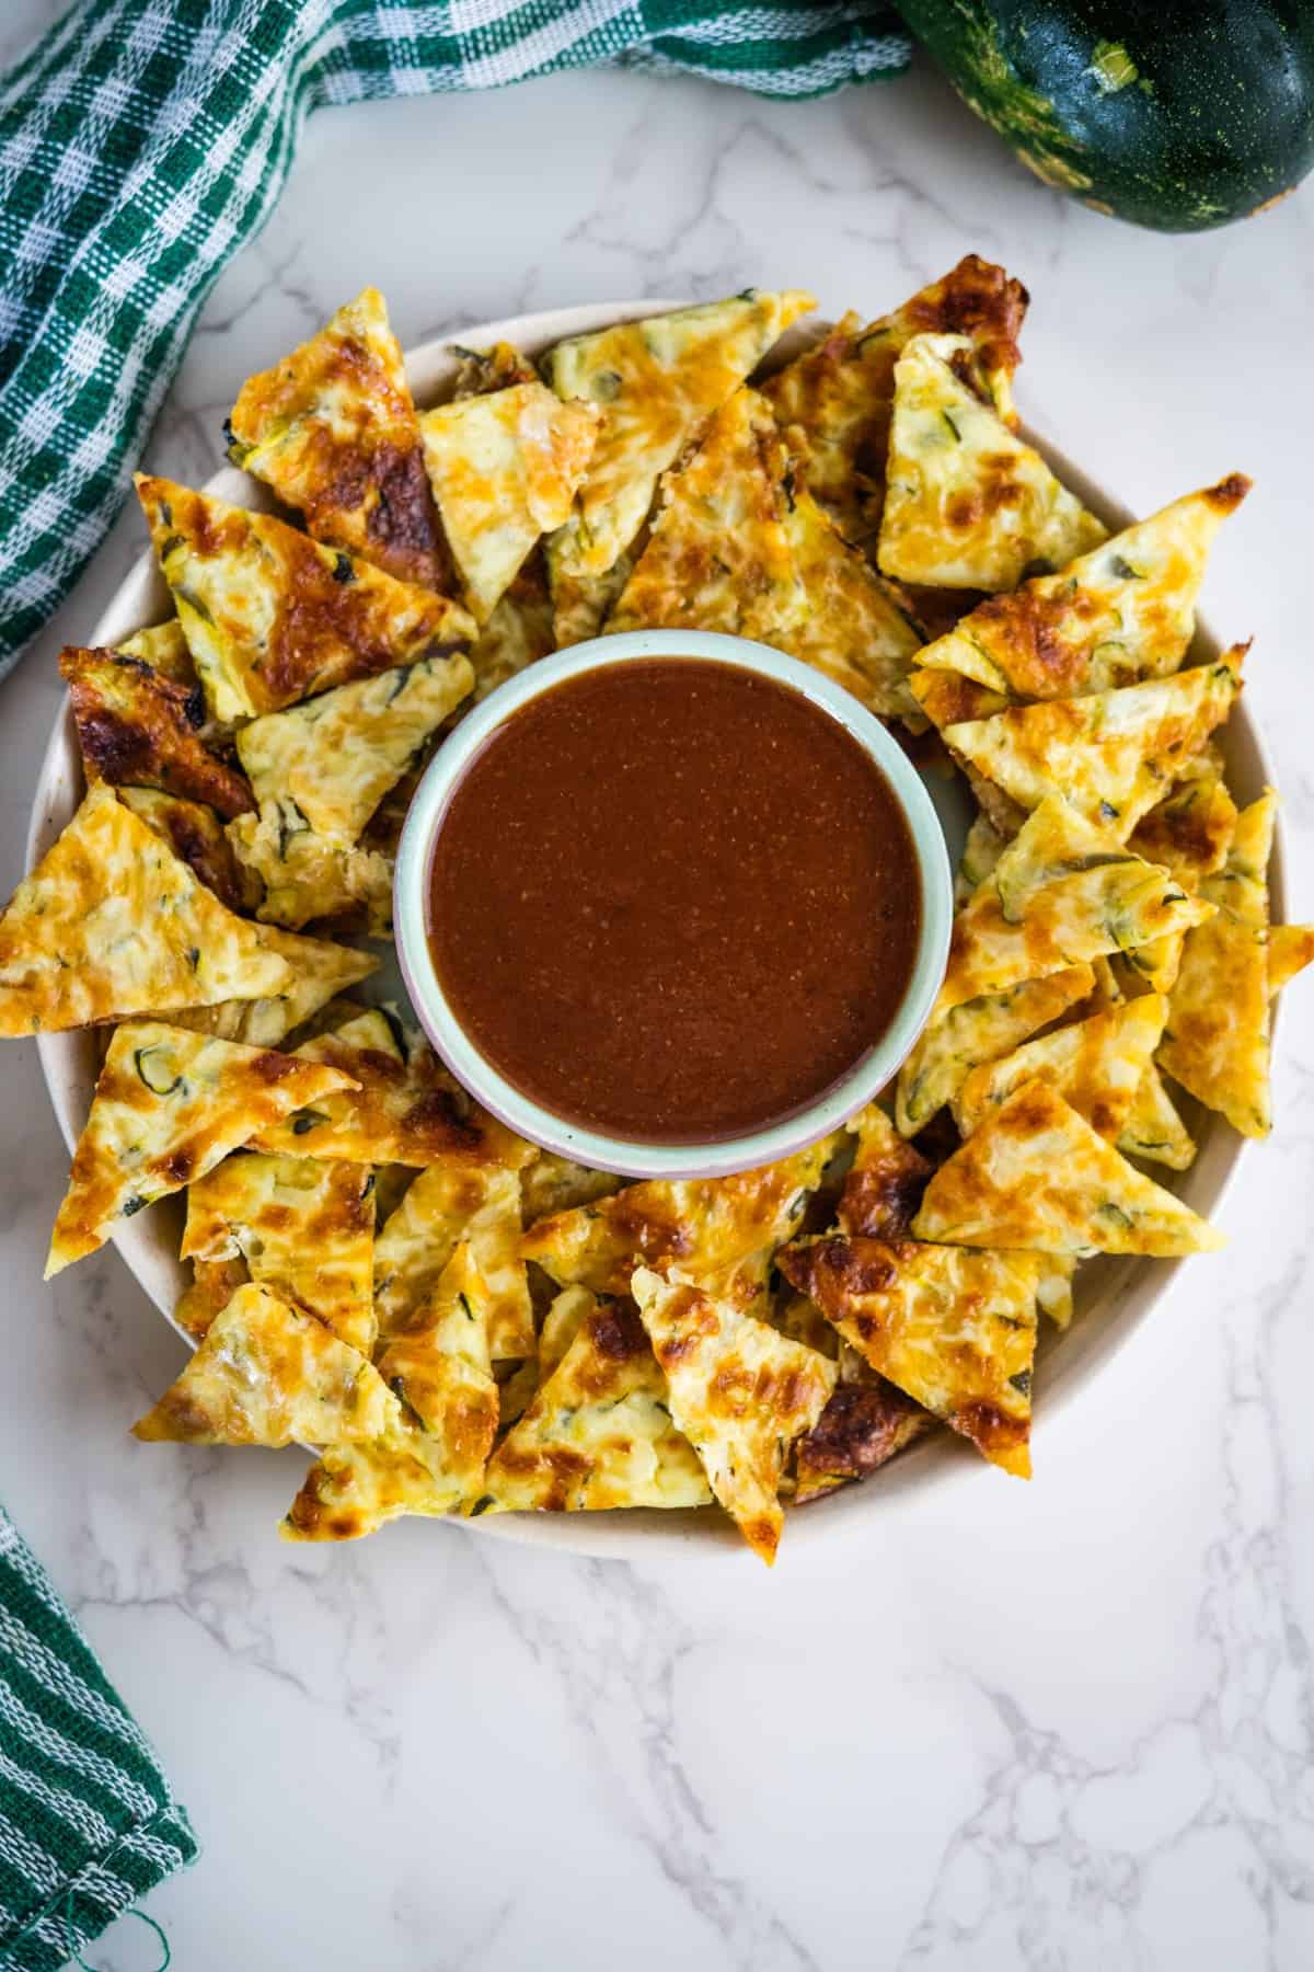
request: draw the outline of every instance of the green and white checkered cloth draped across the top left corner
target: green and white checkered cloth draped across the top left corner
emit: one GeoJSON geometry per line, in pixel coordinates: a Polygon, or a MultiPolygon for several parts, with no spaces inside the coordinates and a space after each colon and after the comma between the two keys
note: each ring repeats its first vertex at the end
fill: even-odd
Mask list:
{"type": "Polygon", "coordinates": [[[118,513],[197,310],[270,217],[307,110],[587,63],[812,97],[896,75],[908,41],[885,0],[69,8],[0,81],[0,676],[118,513]]]}

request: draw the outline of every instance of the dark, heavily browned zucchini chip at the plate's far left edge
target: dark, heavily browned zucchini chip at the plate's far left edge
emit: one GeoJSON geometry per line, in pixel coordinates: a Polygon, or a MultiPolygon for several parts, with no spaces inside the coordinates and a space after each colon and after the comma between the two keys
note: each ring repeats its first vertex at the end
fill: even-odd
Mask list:
{"type": "Polygon", "coordinates": [[[160,787],[229,818],[254,809],[242,775],[197,738],[205,724],[199,686],[175,684],[140,657],[114,651],[65,649],[59,670],[89,783],[160,787]]]}

